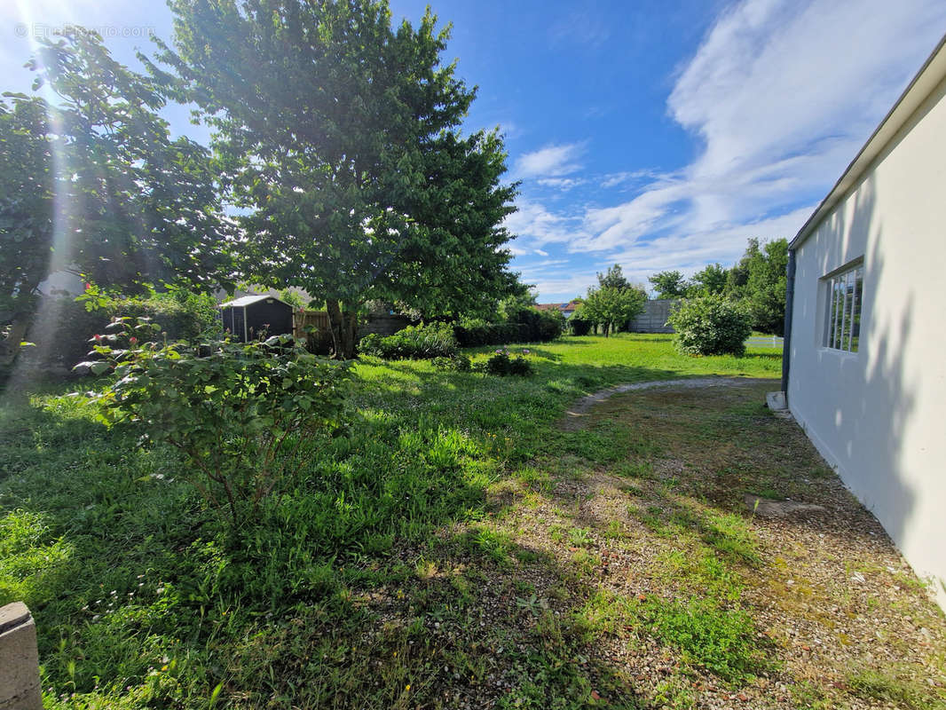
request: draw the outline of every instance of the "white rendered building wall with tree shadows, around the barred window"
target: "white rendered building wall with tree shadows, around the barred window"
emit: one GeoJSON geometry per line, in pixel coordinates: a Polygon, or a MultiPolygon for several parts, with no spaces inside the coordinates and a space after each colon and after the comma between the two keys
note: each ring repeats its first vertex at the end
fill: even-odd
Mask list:
{"type": "Polygon", "coordinates": [[[797,248],[792,414],[946,609],[946,81],[797,248]],[[864,258],[859,352],[822,277],[864,258]]]}

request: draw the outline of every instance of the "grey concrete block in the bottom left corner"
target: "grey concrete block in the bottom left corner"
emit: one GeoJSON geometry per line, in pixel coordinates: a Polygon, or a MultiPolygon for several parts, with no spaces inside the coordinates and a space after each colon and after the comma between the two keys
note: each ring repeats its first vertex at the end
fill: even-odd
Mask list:
{"type": "Polygon", "coordinates": [[[22,602],[0,608],[0,710],[43,710],[36,624],[22,602]]]}

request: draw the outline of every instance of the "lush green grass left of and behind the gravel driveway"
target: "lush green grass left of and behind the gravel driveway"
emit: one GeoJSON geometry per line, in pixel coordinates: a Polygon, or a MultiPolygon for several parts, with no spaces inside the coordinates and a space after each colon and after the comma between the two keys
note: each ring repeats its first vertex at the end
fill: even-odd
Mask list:
{"type": "MultiPolygon", "coordinates": [[[[4,396],[0,604],[36,615],[46,706],[198,707],[213,692],[220,707],[408,706],[405,686],[416,694],[441,672],[409,660],[429,643],[410,619],[453,618],[476,581],[452,577],[443,609],[398,596],[414,575],[404,550],[485,520],[488,489],[562,446],[554,422],[588,392],[780,371],[770,351],[687,358],[668,336],[529,349],[531,378],[357,364],[349,435],[314,442],[289,492],[236,534],[180,480],[172,451],[106,430],[77,399],[4,396]],[[395,608],[409,621],[385,626],[395,608]]],[[[488,527],[474,541],[505,554],[488,527]]],[[[479,672],[473,656],[454,661],[479,672]]]]}

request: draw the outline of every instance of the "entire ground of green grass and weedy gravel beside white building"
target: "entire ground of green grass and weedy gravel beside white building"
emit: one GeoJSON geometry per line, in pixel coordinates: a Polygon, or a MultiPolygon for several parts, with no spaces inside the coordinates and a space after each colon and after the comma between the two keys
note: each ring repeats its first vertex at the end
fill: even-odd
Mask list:
{"type": "Polygon", "coordinates": [[[762,407],[771,348],[529,349],[529,379],[357,364],[348,434],[236,533],[175,453],[62,388],[5,396],[0,604],[34,612],[47,708],[943,701],[942,615],[762,407]],[[562,425],[609,385],[711,375],[749,379],[562,425]],[[762,519],[745,494],[828,514],[762,519]]]}

